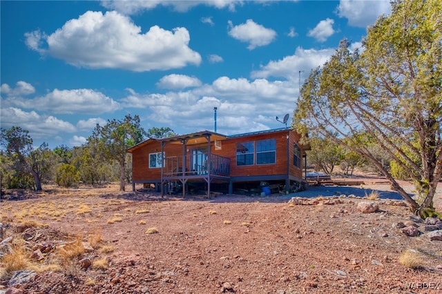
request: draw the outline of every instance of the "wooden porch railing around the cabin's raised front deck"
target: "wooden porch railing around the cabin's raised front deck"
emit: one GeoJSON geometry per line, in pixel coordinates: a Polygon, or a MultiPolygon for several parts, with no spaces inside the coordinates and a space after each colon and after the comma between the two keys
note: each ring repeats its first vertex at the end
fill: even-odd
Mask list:
{"type": "Polygon", "coordinates": [[[171,156],[164,159],[164,177],[191,175],[230,175],[230,159],[207,153],[197,155],[171,156]],[[184,170],[183,162],[186,162],[184,170]]]}

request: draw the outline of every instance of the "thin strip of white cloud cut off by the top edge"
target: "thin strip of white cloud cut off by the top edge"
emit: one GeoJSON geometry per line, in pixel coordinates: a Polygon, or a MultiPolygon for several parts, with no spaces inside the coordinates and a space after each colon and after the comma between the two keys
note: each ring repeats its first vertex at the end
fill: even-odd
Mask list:
{"type": "Polygon", "coordinates": [[[151,10],[157,6],[170,6],[173,8],[173,10],[178,12],[186,12],[189,9],[199,5],[211,6],[218,9],[228,8],[230,11],[235,11],[237,5],[242,6],[242,2],[242,0],[111,0],[102,1],[102,6],[117,10],[124,14],[136,14],[143,10],[151,10]]]}

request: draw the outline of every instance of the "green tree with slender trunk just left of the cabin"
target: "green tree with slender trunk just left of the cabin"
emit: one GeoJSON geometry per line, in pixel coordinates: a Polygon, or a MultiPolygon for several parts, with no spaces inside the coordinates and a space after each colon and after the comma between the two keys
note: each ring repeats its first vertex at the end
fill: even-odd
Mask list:
{"type": "Polygon", "coordinates": [[[97,146],[104,158],[119,164],[119,190],[125,190],[126,150],[140,143],[144,136],[146,131],[140,126],[140,117],[126,115],[122,120],[108,120],[104,126],[97,124],[93,135],[88,138],[88,144],[97,146]]]}

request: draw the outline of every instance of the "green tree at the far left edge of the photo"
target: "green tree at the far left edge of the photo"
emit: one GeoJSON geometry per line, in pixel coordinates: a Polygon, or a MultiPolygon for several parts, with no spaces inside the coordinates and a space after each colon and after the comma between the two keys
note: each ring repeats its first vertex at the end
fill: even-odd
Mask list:
{"type": "Polygon", "coordinates": [[[29,131],[19,126],[12,126],[9,130],[1,128],[0,143],[6,147],[7,155],[17,163],[17,170],[30,173],[35,180],[35,190],[41,190],[41,179],[50,167],[48,144],[43,143],[35,149],[29,131]]]}

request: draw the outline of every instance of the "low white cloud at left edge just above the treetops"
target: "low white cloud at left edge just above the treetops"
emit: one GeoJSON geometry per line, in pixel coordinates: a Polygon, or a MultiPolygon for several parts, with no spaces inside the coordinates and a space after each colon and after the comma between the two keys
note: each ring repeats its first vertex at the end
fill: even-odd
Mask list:
{"type": "Polygon", "coordinates": [[[76,130],[73,124],[52,115],[39,115],[35,111],[26,112],[13,107],[1,109],[1,126],[2,128],[20,126],[29,130],[32,139],[47,139],[59,133],[73,133],[76,130]]]}

